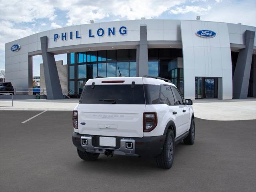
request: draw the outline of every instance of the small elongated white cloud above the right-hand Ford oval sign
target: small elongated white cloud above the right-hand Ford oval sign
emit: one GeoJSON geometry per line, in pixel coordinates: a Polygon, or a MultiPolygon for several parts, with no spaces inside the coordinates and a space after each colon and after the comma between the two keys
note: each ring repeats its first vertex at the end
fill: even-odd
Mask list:
{"type": "Polygon", "coordinates": [[[170,10],[170,14],[185,14],[188,12],[192,12],[198,15],[203,15],[211,10],[211,6],[207,6],[207,8],[203,8],[200,6],[183,6],[183,7],[176,7],[175,9],[170,10]]]}

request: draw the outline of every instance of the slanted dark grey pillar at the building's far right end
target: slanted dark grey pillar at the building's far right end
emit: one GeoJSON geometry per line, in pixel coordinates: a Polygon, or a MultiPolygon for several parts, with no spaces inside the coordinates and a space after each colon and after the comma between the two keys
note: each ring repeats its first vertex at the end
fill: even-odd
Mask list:
{"type": "Polygon", "coordinates": [[[248,94],[255,32],[246,30],[245,33],[246,48],[239,51],[233,76],[233,99],[246,99],[248,94]]]}

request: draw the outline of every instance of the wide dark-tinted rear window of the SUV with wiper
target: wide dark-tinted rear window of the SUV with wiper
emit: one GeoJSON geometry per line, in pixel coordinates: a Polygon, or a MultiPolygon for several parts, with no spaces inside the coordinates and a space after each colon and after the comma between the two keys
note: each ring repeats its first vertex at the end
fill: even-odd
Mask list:
{"type": "Polygon", "coordinates": [[[81,104],[145,104],[143,85],[85,86],[81,104]],[[104,101],[105,100],[105,101],[104,101]]]}

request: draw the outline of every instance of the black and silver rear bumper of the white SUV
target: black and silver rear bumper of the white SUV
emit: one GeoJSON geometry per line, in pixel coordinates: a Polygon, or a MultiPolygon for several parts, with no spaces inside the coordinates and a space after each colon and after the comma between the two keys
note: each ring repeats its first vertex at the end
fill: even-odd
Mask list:
{"type": "Polygon", "coordinates": [[[99,145],[100,136],[73,132],[72,141],[79,150],[91,153],[104,154],[106,150],[111,150],[117,155],[155,157],[162,152],[165,136],[142,138],[116,137],[116,147],[107,147],[99,145]],[[132,143],[132,148],[127,148],[127,142],[132,143]]]}

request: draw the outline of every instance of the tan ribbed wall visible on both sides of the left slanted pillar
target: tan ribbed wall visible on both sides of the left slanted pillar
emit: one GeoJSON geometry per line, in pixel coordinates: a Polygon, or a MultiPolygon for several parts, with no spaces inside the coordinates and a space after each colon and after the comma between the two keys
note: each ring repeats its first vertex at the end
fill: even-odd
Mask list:
{"type": "MultiPolygon", "coordinates": [[[[62,93],[66,94],[68,90],[68,65],[63,65],[63,61],[60,60],[56,61],[56,66],[60,78],[60,86],[62,89],[62,93]]],[[[44,79],[44,66],[42,63],[40,64],[40,89],[41,94],[47,94],[44,79]]]]}

